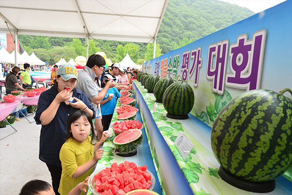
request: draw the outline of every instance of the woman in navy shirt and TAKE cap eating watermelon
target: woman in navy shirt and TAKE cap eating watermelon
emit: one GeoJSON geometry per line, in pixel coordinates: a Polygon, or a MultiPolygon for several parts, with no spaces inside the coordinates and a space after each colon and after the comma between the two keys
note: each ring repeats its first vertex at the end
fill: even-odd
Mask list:
{"type": "Polygon", "coordinates": [[[62,174],[59,153],[67,138],[67,119],[76,110],[84,110],[90,117],[95,117],[87,96],[74,88],[76,83],[77,69],[70,64],[61,65],[58,69],[56,85],[40,94],[34,117],[37,124],[42,125],[39,137],[39,159],[46,163],[51,173],[56,195],[59,195],[58,188],[62,174]],[[72,102],[71,97],[74,98],[72,102]]]}

